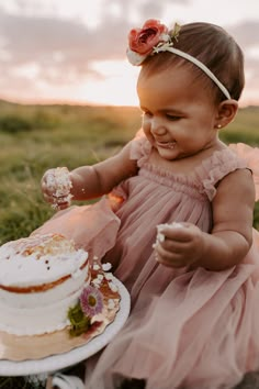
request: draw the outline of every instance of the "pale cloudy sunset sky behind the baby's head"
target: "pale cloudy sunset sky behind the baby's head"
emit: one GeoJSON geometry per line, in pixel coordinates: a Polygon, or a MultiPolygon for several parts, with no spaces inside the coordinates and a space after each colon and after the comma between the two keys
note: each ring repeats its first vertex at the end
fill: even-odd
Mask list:
{"type": "Polygon", "coordinates": [[[240,104],[259,104],[259,0],[0,0],[0,99],[137,105],[125,52],[147,19],[226,29],[246,58],[240,104]]]}

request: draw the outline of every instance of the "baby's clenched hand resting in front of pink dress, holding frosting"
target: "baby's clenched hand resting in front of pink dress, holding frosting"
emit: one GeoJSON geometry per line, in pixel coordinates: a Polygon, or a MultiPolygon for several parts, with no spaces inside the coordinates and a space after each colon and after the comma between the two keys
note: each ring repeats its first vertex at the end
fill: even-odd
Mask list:
{"type": "Polygon", "coordinates": [[[157,226],[154,245],[156,259],[169,267],[184,267],[200,259],[204,249],[204,234],[194,224],[172,223],[157,226]]]}

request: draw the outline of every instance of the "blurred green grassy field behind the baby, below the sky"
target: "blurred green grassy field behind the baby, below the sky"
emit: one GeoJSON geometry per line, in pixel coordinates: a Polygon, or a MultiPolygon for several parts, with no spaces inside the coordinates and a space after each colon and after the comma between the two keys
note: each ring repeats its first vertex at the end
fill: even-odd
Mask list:
{"type": "MultiPolygon", "coordinates": [[[[140,126],[137,108],[20,105],[0,101],[0,244],[27,236],[53,210],[40,181],[50,167],[93,164],[114,155],[140,126]]],[[[259,108],[241,109],[223,130],[226,143],[259,145],[259,108]]],[[[255,208],[259,229],[259,204],[255,208]]],[[[26,378],[0,377],[0,389],[36,389],[26,378]]],[[[38,388],[41,389],[41,388],[38,388]]]]}

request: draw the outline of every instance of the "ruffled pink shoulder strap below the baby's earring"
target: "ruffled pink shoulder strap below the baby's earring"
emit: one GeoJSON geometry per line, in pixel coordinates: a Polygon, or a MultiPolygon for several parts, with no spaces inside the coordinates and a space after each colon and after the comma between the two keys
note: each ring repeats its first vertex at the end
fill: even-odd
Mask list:
{"type": "Polygon", "coordinates": [[[216,194],[216,185],[229,173],[246,168],[247,163],[237,157],[229,148],[215,152],[205,159],[198,169],[199,178],[203,182],[203,192],[212,201],[216,194]]]}

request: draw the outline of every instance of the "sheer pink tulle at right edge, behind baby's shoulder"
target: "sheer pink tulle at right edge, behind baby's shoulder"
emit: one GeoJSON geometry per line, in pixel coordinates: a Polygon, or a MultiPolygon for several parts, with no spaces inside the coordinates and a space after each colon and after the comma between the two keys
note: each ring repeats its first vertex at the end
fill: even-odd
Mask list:
{"type": "Polygon", "coordinates": [[[247,167],[252,171],[252,178],[256,187],[256,201],[259,200],[259,148],[251,147],[245,143],[230,144],[229,148],[243,158],[247,167]]]}

